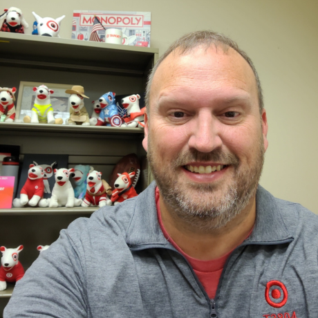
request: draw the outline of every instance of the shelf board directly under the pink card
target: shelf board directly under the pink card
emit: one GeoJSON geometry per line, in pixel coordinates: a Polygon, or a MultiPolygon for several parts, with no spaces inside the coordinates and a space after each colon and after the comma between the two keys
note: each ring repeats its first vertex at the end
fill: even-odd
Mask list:
{"type": "Polygon", "coordinates": [[[1,215],[92,214],[99,207],[12,207],[0,209],[1,215]]]}

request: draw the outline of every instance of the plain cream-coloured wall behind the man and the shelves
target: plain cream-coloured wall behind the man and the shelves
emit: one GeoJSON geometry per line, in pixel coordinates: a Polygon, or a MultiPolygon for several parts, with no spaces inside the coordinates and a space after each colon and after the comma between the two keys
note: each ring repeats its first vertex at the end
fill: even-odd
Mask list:
{"type": "MultiPolygon", "coordinates": [[[[160,54],[186,32],[211,29],[232,37],[259,71],[268,111],[270,146],[261,185],[318,214],[317,0],[15,0],[32,26],[32,11],[59,17],[71,38],[73,10],[151,12],[151,46],[160,54]]],[[[9,8],[11,0],[2,0],[9,8]]],[[[31,28],[27,33],[32,32],[31,28]]],[[[1,50],[1,44],[0,44],[1,50]]],[[[79,83],[80,84],[80,83],[79,83]]],[[[1,85],[6,86],[3,78],[1,85]]],[[[0,86],[1,86],[0,85],[0,86]]]]}

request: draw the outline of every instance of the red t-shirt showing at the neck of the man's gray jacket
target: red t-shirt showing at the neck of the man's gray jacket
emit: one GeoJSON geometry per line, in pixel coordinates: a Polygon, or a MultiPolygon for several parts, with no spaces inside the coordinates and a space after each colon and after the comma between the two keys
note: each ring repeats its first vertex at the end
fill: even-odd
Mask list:
{"type": "MultiPolygon", "coordinates": [[[[232,251],[228,252],[227,254],[220,257],[219,259],[212,259],[211,261],[201,261],[200,259],[194,259],[188,254],[185,254],[185,252],[183,252],[183,250],[181,250],[180,247],[178,247],[176,242],[174,242],[174,240],[169,236],[168,232],[165,230],[165,227],[161,219],[159,197],[160,197],[159,189],[158,187],[156,187],[156,205],[157,205],[158,222],[160,224],[163,234],[165,235],[165,238],[167,238],[167,240],[172,245],[174,245],[176,250],[178,250],[181,254],[183,254],[183,256],[185,256],[187,261],[192,266],[194,272],[196,273],[198,280],[200,281],[203,288],[209,295],[209,298],[214,299],[216,295],[216,289],[218,288],[218,281],[220,280],[225,261],[227,260],[227,257],[230,256],[232,251]]],[[[252,233],[252,230],[247,235],[247,237],[250,236],[251,233],[252,233]]]]}

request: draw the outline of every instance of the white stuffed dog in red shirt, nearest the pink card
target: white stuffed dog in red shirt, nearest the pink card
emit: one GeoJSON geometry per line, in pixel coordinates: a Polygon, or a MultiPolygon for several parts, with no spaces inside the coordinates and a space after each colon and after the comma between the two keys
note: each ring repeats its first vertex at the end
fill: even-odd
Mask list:
{"type": "Polygon", "coordinates": [[[21,189],[20,198],[13,200],[14,207],[24,207],[30,205],[35,207],[47,207],[48,202],[43,198],[44,195],[44,170],[41,166],[31,164],[28,169],[28,179],[21,189]]]}

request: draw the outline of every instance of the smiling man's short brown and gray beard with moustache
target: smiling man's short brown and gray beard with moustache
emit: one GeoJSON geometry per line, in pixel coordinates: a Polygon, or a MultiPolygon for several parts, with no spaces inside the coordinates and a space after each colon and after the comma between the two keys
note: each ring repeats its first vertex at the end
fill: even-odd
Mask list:
{"type": "MultiPolygon", "coordinates": [[[[150,137],[150,136],[149,136],[150,137]]],[[[149,138],[151,140],[151,138],[149,138]]],[[[160,195],[171,214],[182,219],[191,227],[201,231],[210,231],[224,227],[229,221],[245,209],[256,189],[261,177],[264,162],[263,135],[255,149],[254,160],[242,166],[238,157],[216,149],[210,153],[200,153],[196,150],[180,153],[171,161],[169,167],[162,167],[162,162],[148,142],[148,160],[156,180],[160,195]],[[187,180],[180,184],[176,172],[183,169],[188,162],[222,162],[232,165],[232,179],[225,185],[224,180],[213,184],[194,183],[187,180]],[[216,191],[223,188],[223,194],[216,196],[216,191]]]]}

